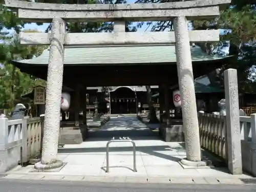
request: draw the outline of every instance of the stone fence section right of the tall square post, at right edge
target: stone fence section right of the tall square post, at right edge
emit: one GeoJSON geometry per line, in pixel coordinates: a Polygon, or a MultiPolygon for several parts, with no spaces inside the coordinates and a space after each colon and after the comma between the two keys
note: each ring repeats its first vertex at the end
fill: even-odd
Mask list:
{"type": "Polygon", "coordinates": [[[240,116],[243,170],[256,177],[256,114],[240,116]]]}

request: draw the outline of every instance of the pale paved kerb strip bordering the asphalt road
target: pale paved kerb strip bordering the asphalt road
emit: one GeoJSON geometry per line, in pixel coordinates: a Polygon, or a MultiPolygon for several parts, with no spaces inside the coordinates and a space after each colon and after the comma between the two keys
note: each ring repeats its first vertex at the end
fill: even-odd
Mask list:
{"type": "Polygon", "coordinates": [[[77,181],[77,182],[101,182],[101,183],[158,183],[158,184],[236,184],[244,185],[238,178],[216,177],[125,177],[125,176],[81,176],[81,175],[53,175],[53,174],[9,174],[5,180],[29,180],[29,181],[77,181]]]}

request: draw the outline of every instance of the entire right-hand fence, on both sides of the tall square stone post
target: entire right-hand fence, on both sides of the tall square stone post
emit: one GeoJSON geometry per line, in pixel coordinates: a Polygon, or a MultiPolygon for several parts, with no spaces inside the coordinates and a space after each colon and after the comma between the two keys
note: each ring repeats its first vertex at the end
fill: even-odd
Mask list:
{"type": "MultiPolygon", "coordinates": [[[[201,146],[228,163],[226,116],[198,113],[198,121],[201,146]]],[[[256,114],[240,116],[240,130],[243,170],[256,176],[256,114]]]]}

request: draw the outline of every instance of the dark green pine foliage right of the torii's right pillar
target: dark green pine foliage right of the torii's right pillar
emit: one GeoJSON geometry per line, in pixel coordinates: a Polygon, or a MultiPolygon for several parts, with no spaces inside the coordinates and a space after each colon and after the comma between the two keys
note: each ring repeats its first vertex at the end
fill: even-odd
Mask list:
{"type": "MultiPolygon", "coordinates": [[[[194,21],[194,29],[224,29],[221,42],[215,47],[222,48],[229,42],[229,54],[234,55],[221,71],[229,68],[238,70],[240,92],[255,92],[255,66],[256,66],[256,9],[248,1],[233,1],[233,6],[222,11],[221,16],[215,20],[194,21]],[[238,4],[236,4],[238,3],[238,4]]],[[[209,44],[204,45],[209,46],[209,44]]],[[[204,46],[200,45],[202,49],[204,46]]],[[[219,53],[218,51],[216,52],[219,53]]],[[[215,74],[212,84],[223,86],[222,73],[215,74]]]]}

